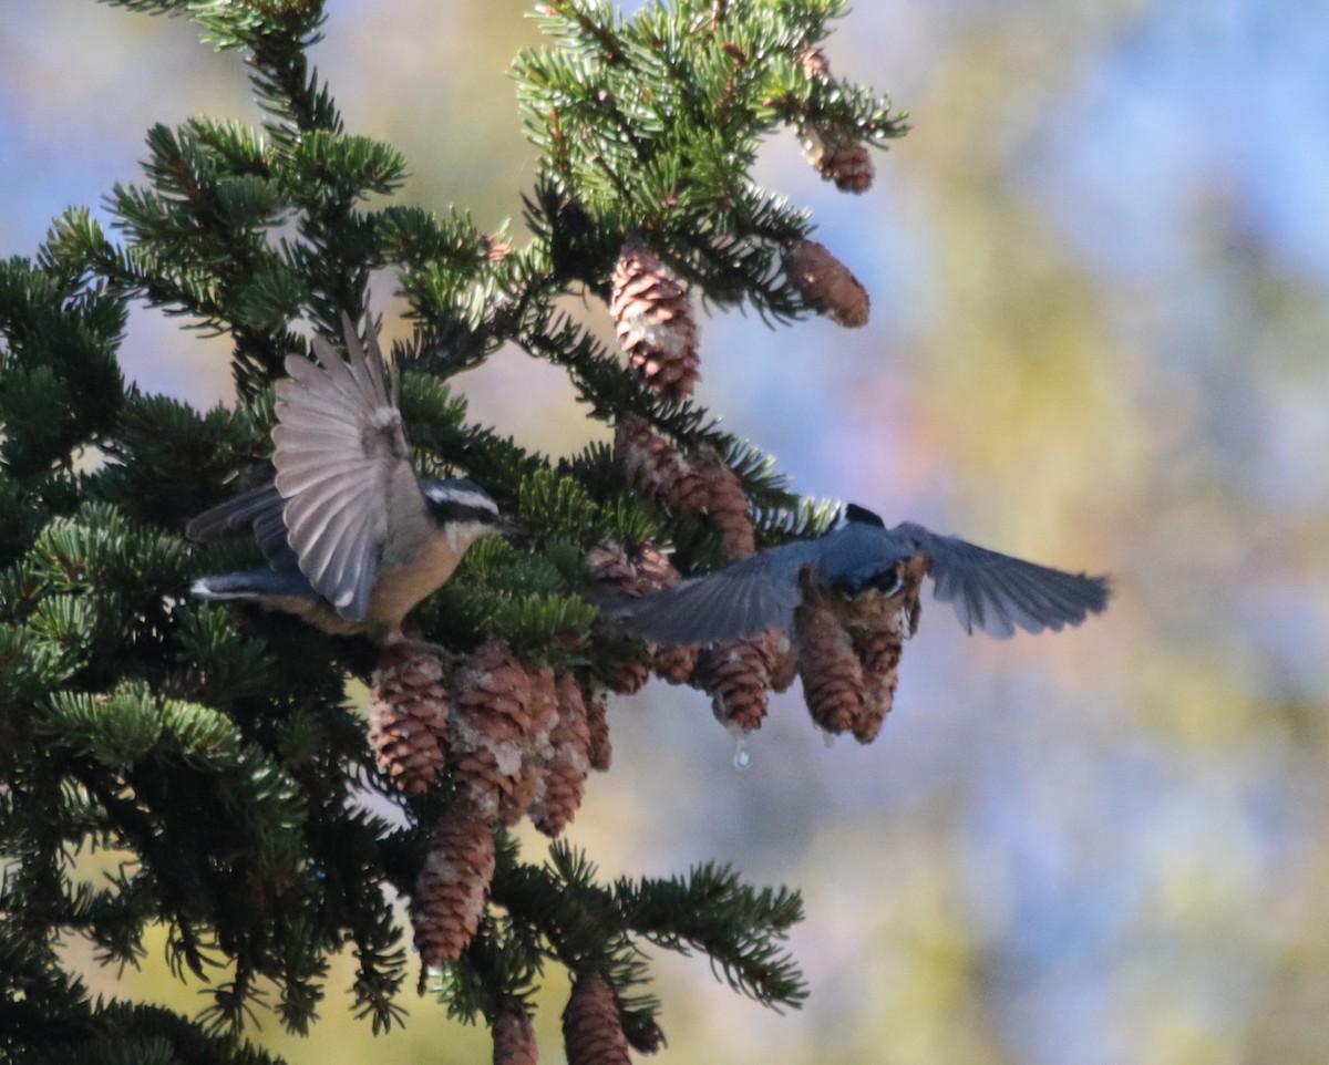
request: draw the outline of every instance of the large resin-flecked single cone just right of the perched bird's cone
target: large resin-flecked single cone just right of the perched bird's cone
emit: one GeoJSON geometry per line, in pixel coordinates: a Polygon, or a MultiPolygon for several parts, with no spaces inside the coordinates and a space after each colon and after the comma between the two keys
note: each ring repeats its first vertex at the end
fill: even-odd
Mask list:
{"type": "Polygon", "coordinates": [[[478,810],[497,818],[504,799],[517,790],[538,733],[533,681],[508,645],[494,639],[470,656],[455,687],[448,737],[453,779],[478,810]]]}

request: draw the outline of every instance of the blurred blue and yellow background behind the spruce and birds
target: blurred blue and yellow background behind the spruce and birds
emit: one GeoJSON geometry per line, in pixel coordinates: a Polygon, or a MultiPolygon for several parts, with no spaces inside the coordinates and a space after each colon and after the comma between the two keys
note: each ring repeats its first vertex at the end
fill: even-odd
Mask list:
{"type": "MultiPolygon", "coordinates": [[[[524,11],[330,0],[320,73],[351,131],[405,151],[405,202],[520,218],[524,11]]],[[[700,398],[808,495],[1110,571],[1116,598],[1007,643],[925,606],[869,748],[828,748],[795,692],[739,772],[702,695],[657,681],[611,706],[614,769],[570,830],[602,872],[731,859],[807,906],[795,1013],[657,956],[661,1061],[1326,1061],[1329,5],[874,0],[827,50],[914,130],[863,197],[820,182],[792,131],[758,178],[813,210],[872,321],[711,317],[700,398]]],[[[8,0],[0,254],[136,181],[150,123],[198,113],[260,121],[238,57],[190,24],[8,0]]],[[[225,344],[175,320],[137,311],[122,351],[148,390],[230,402],[225,344]]],[[[602,433],[517,352],[460,384],[522,444],[602,433]]],[[[203,1005],[152,963],[89,980],[203,1005]]],[[[292,1064],[486,1060],[484,1032],[413,996],[373,1040],[348,971],[312,1038],[271,1016],[255,1037],[292,1064]]]]}

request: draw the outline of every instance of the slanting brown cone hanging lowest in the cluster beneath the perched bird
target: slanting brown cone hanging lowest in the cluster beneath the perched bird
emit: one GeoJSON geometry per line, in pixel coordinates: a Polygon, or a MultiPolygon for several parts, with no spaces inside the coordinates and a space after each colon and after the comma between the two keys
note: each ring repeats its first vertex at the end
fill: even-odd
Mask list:
{"type": "Polygon", "coordinates": [[[489,818],[468,802],[453,803],[433,831],[411,900],[411,926],[425,969],[461,957],[480,927],[493,875],[489,818]]]}

